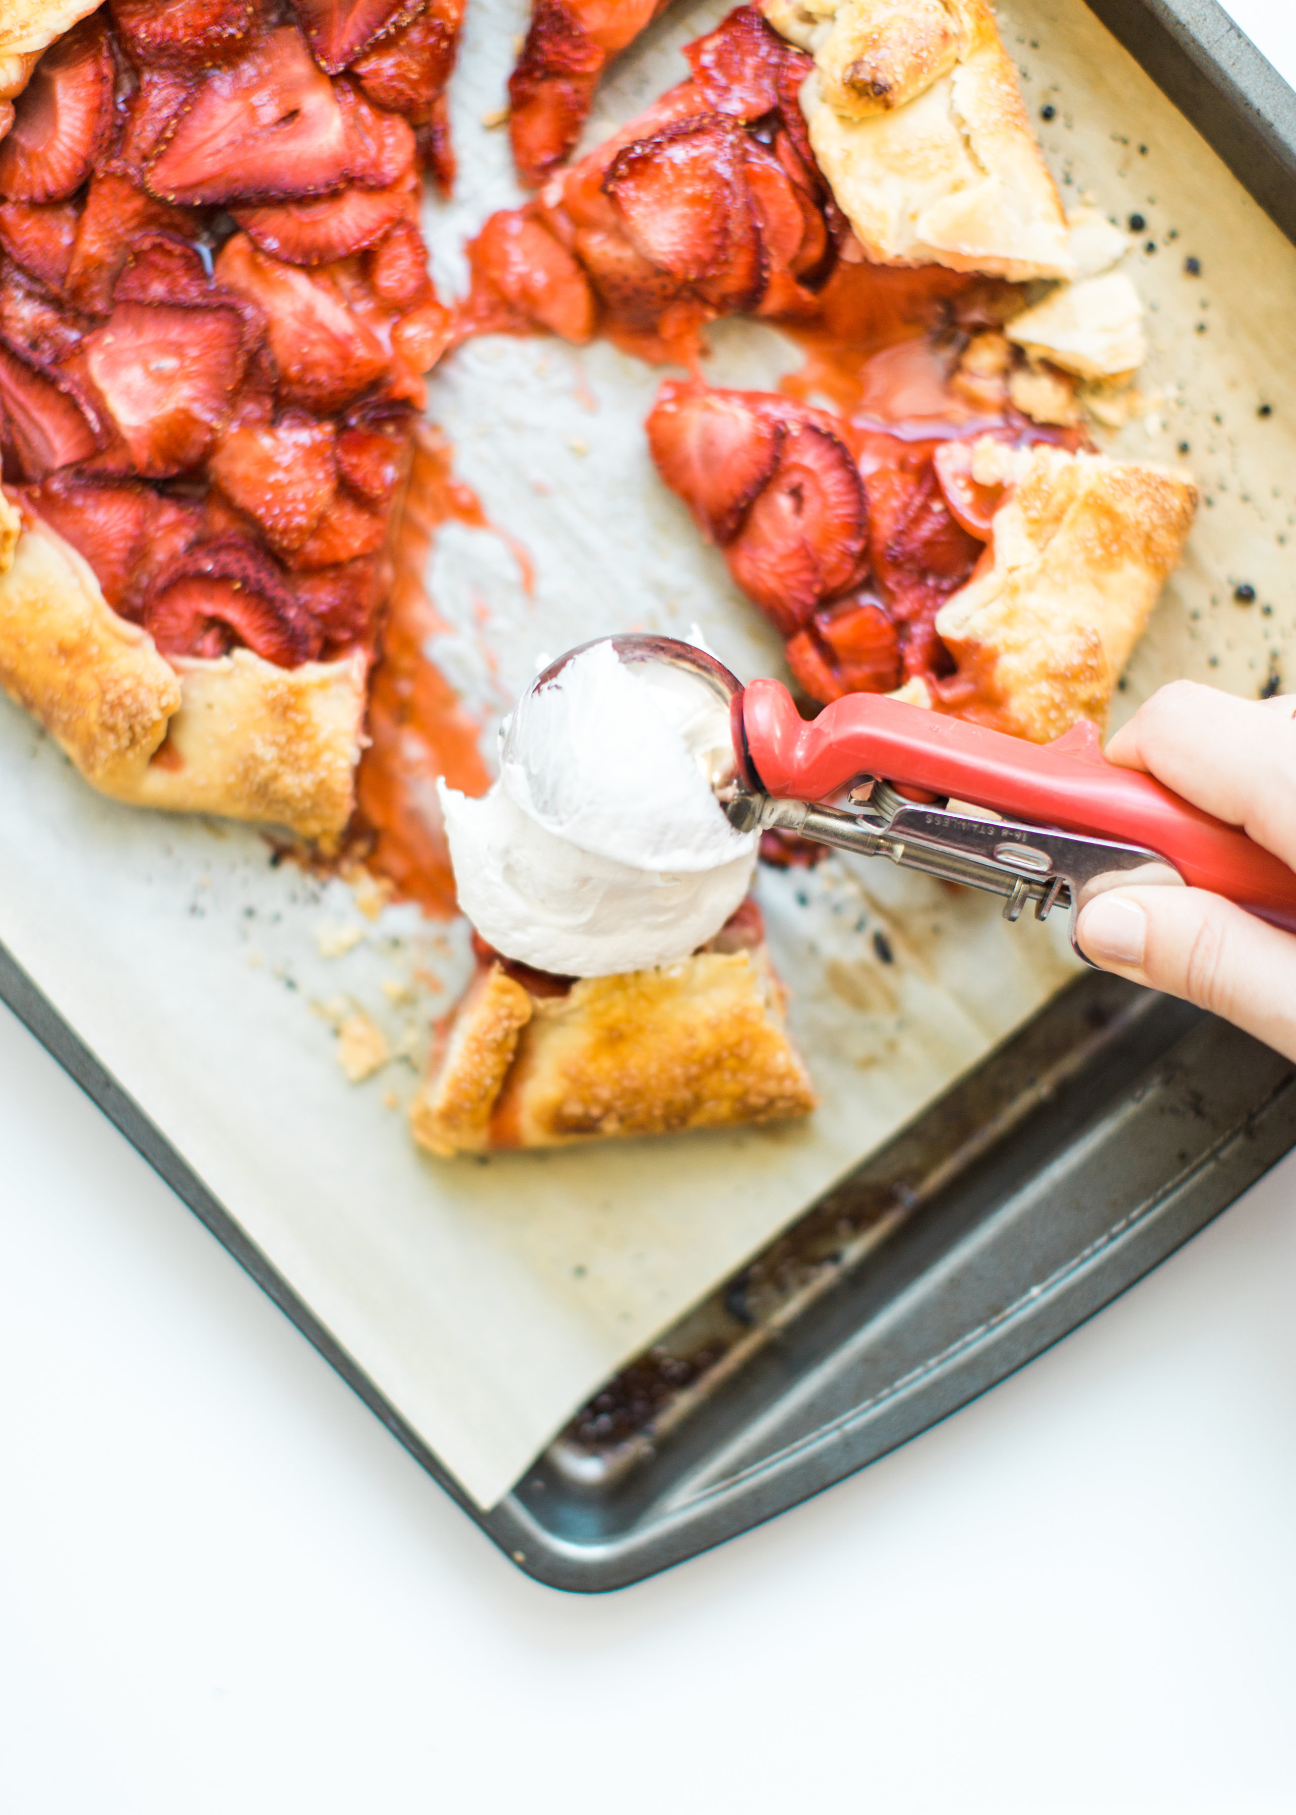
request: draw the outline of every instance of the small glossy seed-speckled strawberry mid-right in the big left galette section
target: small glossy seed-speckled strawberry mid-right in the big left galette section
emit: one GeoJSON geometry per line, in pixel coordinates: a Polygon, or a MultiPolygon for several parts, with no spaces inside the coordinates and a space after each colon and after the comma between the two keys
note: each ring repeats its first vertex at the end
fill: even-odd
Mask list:
{"type": "Polygon", "coordinates": [[[209,472],[252,517],[276,554],[292,554],[329,510],[338,490],[336,432],[303,410],[278,423],[249,423],[221,436],[209,472]]]}

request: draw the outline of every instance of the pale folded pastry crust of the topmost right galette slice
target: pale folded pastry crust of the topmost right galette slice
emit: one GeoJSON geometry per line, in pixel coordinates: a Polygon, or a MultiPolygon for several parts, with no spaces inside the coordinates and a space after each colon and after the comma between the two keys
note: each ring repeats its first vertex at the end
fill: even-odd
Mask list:
{"type": "Polygon", "coordinates": [[[986,0],[764,0],[813,51],[800,107],[866,254],[1073,278],[1067,221],[986,0]]]}

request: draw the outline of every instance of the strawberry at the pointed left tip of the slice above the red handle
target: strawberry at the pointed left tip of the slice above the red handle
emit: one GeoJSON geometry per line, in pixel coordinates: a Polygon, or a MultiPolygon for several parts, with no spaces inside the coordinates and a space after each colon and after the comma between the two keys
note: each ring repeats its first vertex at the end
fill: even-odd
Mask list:
{"type": "Polygon", "coordinates": [[[786,436],[786,425],[753,408],[741,390],[675,379],[661,387],[648,417],[657,472],[721,546],[733,541],[773,477],[786,436]]]}

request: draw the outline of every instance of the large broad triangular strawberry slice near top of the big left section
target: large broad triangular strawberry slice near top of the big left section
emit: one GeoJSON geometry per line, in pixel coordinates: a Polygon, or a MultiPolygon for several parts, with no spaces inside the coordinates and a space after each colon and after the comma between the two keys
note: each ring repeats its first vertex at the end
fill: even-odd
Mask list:
{"type": "Polygon", "coordinates": [[[352,174],[354,154],[339,94],[296,25],[281,25],[203,76],[147,183],[192,205],[318,196],[352,174]]]}

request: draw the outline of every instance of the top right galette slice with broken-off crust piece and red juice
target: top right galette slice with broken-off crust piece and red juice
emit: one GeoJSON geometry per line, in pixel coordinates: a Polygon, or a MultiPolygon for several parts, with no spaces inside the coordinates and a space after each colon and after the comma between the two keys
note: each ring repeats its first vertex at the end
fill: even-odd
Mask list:
{"type": "MultiPolygon", "coordinates": [[[[548,131],[575,80],[552,56],[515,132],[548,131]]],[[[1000,414],[1011,394],[1053,425],[1089,396],[1113,412],[1144,359],[1138,294],[1113,270],[1129,241],[1095,209],[1064,216],[982,0],[770,0],[684,58],[684,82],[486,221],[459,334],[603,334],[695,367],[710,321],[750,314],[808,343],[804,394],[900,407],[913,387],[864,368],[917,338],[953,410],[1000,414]],[[1067,283],[1040,301],[1036,280],[1067,283]]]]}

